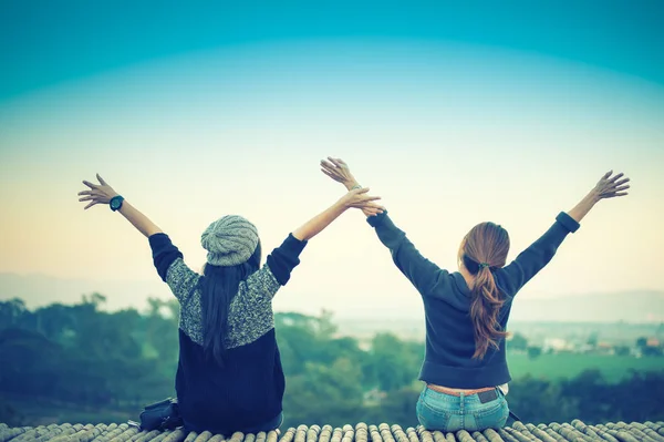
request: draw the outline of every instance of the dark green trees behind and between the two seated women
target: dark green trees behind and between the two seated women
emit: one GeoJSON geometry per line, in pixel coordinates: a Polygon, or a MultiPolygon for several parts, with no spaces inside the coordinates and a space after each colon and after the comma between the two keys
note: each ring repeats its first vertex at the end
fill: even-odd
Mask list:
{"type": "MultiPolygon", "coordinates": [[[[53,408],[23,413],[27,400],[58,403],[61,421],[73,420],[64,403],[113,411],[113,418],[98,411],[98,421],[136,419],[143,405],[175,394],[177,302],[151,299],[145,312],[107,312],[104,301],[93,294],[34,311],[20,299],[0,302],[0,422],[34,424],[43,415],[50,421],[39,423],[52,423],[53,408]]],[[[284,425],[417,424],[422,342],[391,333],[343,337],[328,312],[277,313],[274,320],[287,373],[284,425]]],[[[526,346],[523,338],[512,348],[526,346]]],[[[515,380],[508,401],[525,421],[592,423],[663,420],[663,398],[664,371],[632,372],[621,383],[587,371],[563,381],[515,380]]]]}

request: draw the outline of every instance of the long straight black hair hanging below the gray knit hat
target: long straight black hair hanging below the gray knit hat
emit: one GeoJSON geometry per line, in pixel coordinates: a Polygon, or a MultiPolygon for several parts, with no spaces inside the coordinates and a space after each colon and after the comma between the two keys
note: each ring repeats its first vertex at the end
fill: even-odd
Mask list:
{"type": "Polygon", "coordinates": [[[260,267],[260,241],[253,255],[237,266],[221,267],[206,264],[200,278],[203,309],[203,348],[208,358],[224,366],[226,332],[230,301],[238,294],[240,281],[260,267]]]}

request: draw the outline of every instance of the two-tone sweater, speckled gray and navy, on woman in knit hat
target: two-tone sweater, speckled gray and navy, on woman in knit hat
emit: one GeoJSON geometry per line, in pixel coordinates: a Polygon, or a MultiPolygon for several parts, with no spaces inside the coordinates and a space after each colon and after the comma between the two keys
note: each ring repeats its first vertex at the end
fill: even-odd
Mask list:
{"type": "Polygon", "coordinates": [[[231,434],[276,419],[286,388],[274,336],[272,297],[286,285],[307,245],[292,235],[267,264],[241,281],[229,306],[225,366],[203,348],[200,276],[167,235],[149,237],[155,267],[180,304],[175,389],[187,430],[231,434]]]}

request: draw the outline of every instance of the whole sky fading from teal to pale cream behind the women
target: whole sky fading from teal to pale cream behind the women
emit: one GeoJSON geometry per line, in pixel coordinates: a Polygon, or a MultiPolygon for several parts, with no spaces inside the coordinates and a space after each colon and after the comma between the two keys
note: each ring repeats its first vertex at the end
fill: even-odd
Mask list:
{"type": "MultiPolygon", "coordinates": [[[[97,172],[195,269],[229,213],[269,251],[343,195],[318,167],[333,155],[452,270],[475,224],[504,225],[513,258],[625,172],[630,196],[600,203],[522,295],[664,290],[657,1],[0,8],[0,273],[159,284],[147,241],[77,202],[97,172]]],[[[359,212],[301,259],[278,310],[421,309],[359,212]]]]}

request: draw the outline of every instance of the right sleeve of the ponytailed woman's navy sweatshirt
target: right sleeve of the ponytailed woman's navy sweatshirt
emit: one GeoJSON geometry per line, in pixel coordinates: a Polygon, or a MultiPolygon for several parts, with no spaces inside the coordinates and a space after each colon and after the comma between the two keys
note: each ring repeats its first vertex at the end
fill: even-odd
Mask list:
{"type": "Polygon", "coordinates": [[[497,270],[498,278],[502,279],[501,286],[510,296],[515,296],[526,282],[549,264],[568,234],[577,232],[579,227],[579,223],[561,212],[541,237],[521,251],[512,263],[497,270]]]}

